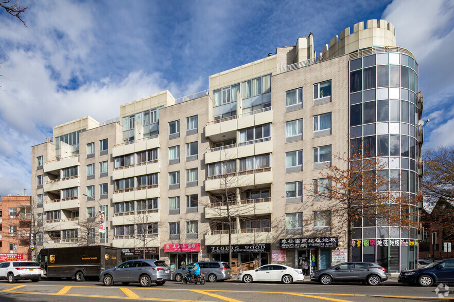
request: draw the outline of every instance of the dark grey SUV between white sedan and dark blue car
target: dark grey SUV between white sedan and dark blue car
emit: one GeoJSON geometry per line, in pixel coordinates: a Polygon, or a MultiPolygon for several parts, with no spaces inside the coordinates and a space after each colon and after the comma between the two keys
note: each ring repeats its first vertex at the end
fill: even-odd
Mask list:
{"type": "Polygon", "coordinates": [[[328,285],[333,281],[368,282],[377,285],[388,280],[386,269],[373,262],[344,262],[339,265],[313,272],[310,280],[328,285]]]}

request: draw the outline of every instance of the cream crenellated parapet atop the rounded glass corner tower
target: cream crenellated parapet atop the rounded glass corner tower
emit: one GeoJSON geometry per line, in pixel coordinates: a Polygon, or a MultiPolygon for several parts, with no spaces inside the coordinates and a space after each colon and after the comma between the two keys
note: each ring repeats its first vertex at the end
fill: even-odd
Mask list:
{"type": "Polygon", "coordinates": [[[386,20],[369,20],[364,28],[364,22],[353,26],[353,33],[350,27],[345,28],[339,36],[336,35],[323,47],[323,59],[331,59],[336,56],[351,53],[355,50],[368,47],[396,46],[396,30],[392,23],[386,20]]]}

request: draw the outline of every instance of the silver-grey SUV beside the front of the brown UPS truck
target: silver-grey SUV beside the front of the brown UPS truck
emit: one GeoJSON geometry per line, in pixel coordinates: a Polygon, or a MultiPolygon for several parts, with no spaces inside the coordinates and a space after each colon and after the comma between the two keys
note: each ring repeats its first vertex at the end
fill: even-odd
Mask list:
{"type": "Polygon", "coordinates": [[[112,269],[102,271],[99,280],[105,286],[115,282],[128,285],[139,282],[142,287],[148,287],[151,282],[164,285],[170,280],[170,268],[162,260],[129,260],[112,269]]]}

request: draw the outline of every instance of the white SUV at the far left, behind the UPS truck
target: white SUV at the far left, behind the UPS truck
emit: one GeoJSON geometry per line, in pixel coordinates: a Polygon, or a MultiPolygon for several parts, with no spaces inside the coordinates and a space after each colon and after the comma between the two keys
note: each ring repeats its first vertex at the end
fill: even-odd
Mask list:
{"type": "Polygon", "coordinates": [[[0,279],[14,283],[16,280],[31,280],[38,282],[41,268],[31,261],[6,261],[0,263],[0,279]]]}

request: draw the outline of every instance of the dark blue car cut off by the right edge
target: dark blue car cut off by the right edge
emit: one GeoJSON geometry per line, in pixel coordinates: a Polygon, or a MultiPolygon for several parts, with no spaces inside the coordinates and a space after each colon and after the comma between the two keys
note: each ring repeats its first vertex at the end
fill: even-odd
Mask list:
{"type": "Polygon", "coordinates": [[[454,259],[435,261],[421,269],[403,271],[397,281],[420,286],[454,282],[454,259]]]}

